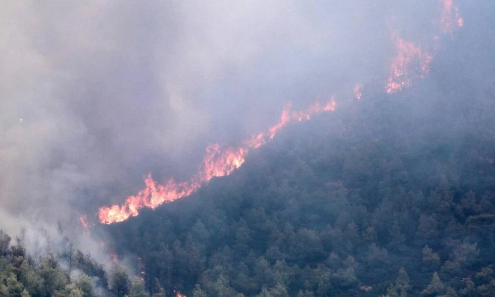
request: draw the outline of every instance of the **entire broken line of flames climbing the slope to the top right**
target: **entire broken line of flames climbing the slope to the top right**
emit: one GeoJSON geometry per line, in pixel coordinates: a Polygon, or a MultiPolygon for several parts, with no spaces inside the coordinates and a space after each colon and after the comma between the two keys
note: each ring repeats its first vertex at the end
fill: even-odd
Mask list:
{"type": "MultiPolygon", "coordinates": [[[[452,35],[456,29],[463,26],[464,21],[459,16],[458,8],[453,5],[452,0],[438,0],[438,2],[441,3],[442,9],[437,21],[439,32],[433,37],[434,45],[431,49],[422,48],[396,34],[392,35],[397,54],[390,65],[390,73],[385,87],[387,93],[392,94],[410,86],[415,79],[425,78],[430,72],[432,58],[439,50],[436,44],[440,41],[440,35],[452,35]]],[[[361,85],[355,85],[353,89],[354,97],[358,100],[361,99],[361,88],[361,85]]],[[[122,222],[129,217],[137,216],[143,207],[154,209],[162,203],[189,196],[213,177],[229,175],[241,167],[249,151],[259,148],[273,139],[277,132],[289,122],[309,120],[315,113],[334,109],[335,101],[333,98],[324,105],[315,103],[303,111],[294,111],[291,105],[287,105],[274,126],[266,132],[252,136],[241,146],[229,148],[222,148],[219,144],[207,146],[206,154],[197,174],[189,181],[178,183],[171,178],[164,185],[160,185],[153,180],[151,175],[148,175],[145,179],[145,189],[139,191],[136,196],[128,197],[122,205],[100,207],[99,221],[103,224],[122,222]]]]}

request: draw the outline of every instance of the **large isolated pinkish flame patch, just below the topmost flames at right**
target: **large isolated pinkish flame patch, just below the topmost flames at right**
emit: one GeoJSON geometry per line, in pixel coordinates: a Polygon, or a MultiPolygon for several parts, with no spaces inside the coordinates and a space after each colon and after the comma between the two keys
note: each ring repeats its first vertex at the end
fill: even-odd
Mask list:
{"type": "Polygon", "coordinates": [[[390,66],[390,76],[385,90],[392,94],[411,85],[413,78],[424,78],[430,72],[432,56],[412,42],[396,37],[397,56],[390,66]]]}

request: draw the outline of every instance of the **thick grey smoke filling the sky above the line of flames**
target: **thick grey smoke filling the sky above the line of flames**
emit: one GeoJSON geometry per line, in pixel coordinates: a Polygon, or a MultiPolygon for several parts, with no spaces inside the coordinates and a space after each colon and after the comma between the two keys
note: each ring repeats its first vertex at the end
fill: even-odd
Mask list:
{"type": "MultiPolygon", "coordinates": [[[[473,66],[452,69],[472,84],[484,77],[486,94],[494,63],[469,47],[491,55],[482,46],[493,45],[493,7],[454,4],[465,28],[483,30],[449,33],[464,52],[444,43],[439,61],[468,54],[473,66]]],[[[2,3],[0,227],[60,221],[77,238],[80,214],[95,221],[148,172],[186,180],[207,143],[264,131],[288,101],[304,109],[352,99],[355,86],[363,100],[369,86],[385,92],[392,36],[434,47],[442,9],[436,0],[2,3]]]]}

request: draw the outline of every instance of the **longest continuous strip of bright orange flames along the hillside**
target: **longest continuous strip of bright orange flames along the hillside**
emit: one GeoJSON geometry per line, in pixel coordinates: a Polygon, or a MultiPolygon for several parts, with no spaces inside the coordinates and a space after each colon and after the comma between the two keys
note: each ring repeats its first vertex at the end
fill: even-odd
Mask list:
{"type": "Polygon", "coordinates": [[[213,177],[229,175],[241,167],[250,150],[264,145],[290,121],[309,120],[313,114],[333,111],[335,110],[335,104],[333,96],[324,105],[316,102],[302,111],[293,111],[292,106],[288,104],[284,107],[279,121],[274,126],[269,128],[267,132],[252,136],[249,140],[243,142],[242,146],[225,149],[219,144],[207,146],[206,154],[203,157],[198,173],[190,181],[177,183],[171,178],[165,185],[160,185],[153,180],[151,174],[148,174],[145,179],[146,187],[139,191],[138,195],[128,197],[122,205],[115,204],[100,207],[98,212],[99,221],[103,224],[122,222],[129,217],[137,216],[139,210],[143,207],[154,209],[165,202],[189,196],[213,177]]]}

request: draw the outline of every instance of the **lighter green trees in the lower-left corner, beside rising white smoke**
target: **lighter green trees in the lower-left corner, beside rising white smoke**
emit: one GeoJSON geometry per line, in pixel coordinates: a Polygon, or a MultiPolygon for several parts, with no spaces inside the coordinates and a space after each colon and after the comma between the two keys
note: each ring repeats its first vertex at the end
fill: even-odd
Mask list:
{"type": "MultiPolygon", "coordinates": [[[[67,238],[61,247],[64,243],[68,244],[67,238]]],[[[80,250],[73,254],[47,252],[46,256],[35,259],[26,254],[20,240],[11,246],[11,238],[0,230],[0,297],[97,296],[146,297],[148,294],[143,281],[138,278],[131,285],[127,272],[120,266],[112,268],[108,287],[103,266],[90,255],[80,250]]]]}

